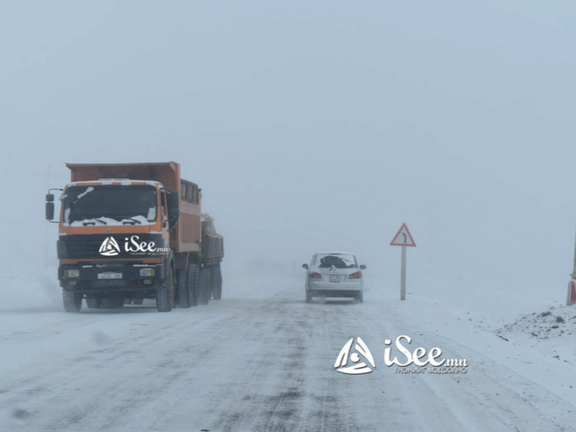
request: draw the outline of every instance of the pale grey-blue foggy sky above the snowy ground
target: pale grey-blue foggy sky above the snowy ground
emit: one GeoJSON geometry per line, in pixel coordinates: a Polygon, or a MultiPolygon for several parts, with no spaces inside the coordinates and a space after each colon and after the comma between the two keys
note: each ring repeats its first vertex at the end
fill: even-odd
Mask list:
{"type": "Polygon", "coordinates": [[[56,266],[43,207],[63,162],[172,160],[225,237],[230,290],[322,249],[395,290],[406,222],[408,291],[561,300],[575,18],[567,1],[2,2],[2,267],[56,266]]]}

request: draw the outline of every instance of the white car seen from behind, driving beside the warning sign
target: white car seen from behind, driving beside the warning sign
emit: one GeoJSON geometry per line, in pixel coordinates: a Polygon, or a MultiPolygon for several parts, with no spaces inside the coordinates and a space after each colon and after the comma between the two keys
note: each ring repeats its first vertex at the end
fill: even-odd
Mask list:
{"type": "Polygon", "coordinates": [[[312,297],[351,297],[363,301],[362,270],[350,252],[316,252],[306,270],[306,303],[312,297]]]}

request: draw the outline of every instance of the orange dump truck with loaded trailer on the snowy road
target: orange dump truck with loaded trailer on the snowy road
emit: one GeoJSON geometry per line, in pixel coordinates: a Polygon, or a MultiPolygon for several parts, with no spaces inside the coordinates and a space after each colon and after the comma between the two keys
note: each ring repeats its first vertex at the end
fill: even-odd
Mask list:
{"type": "Polygon", "coordinates": [[[46,195],[64,308],[156,300],[160,312],[222,296],[223,238],[202,214],[202,190],[176,162],[66,164],[71,183],[46,195]],[[62,192],[54,220],[55,194],[62,192]],[[204,221],[204,222],[203,222],[204,221]]]}

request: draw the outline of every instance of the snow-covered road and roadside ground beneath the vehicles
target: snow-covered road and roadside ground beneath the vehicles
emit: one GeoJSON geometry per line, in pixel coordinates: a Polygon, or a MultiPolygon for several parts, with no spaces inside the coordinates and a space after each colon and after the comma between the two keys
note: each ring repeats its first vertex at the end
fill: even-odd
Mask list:
{"type": "Polygon", "coordinates": [[[298,271],[230,276],[198,308],[73,314],[50,276],[5,279],[0,430],[576,431],[576,307],[551,295],[409,287],[400,302],[368,276],[363,304],[305,304],[298,271]],[[399,335],[468,372],[397,373],[383,353],[399,335]],[[376,369],[336,372],[357,336],[376,369]]]}

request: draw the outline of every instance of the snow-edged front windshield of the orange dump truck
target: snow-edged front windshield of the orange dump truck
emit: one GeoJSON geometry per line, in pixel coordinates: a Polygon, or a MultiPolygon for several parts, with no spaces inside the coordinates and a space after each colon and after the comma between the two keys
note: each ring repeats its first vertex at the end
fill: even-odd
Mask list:
{"type": "Polygon", "coordinates": [[[157,195],[151,185],[70,186],[60,196],[66,225],[150,225],[157,195]]]}

